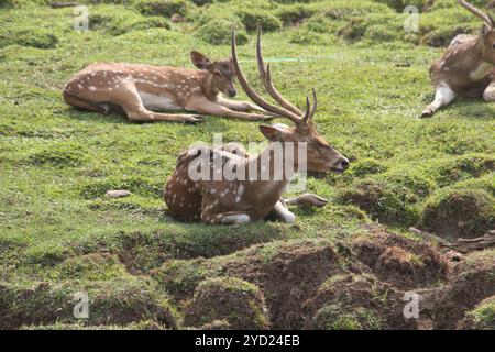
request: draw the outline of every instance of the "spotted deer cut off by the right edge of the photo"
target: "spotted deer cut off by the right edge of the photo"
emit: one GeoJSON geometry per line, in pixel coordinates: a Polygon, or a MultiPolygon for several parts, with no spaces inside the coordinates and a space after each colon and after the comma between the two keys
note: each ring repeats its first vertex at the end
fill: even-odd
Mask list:
{"type": "Polygon", "coordinates": [[[495,20],[464,0],[459,3],[483,20],[477,35],[458,35],[430,67],[435,100],[421,117],[431,117],[459,96],[495,101],[495,20]]]}

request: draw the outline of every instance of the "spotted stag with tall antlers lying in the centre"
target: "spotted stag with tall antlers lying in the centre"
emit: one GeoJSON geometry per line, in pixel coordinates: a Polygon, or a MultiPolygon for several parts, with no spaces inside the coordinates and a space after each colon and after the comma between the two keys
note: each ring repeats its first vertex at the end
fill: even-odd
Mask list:
{"type": "MultiPolygon", "coordinates": [[[[286,222],[294,222],[295,216],[287,210],[282,195],[292,177],[306,158],[307,168],[316,172],[344,172],[349,161],[317,132],[312,122],[317,110],[317,96],[314,91],[314,103],[306,99],[306,111],[284,99],[272,82],[270,65],[265,67],[261,51],[261,29],[257,35],[257,66],[266,91],[279,106],[272,105],[260,97],[248,84],[239,66],[235,33],[232,33],[232,58],[240,85],[248,96],[262,109],[274,116],[286,118],[294,127],[261,125],[261,132],[271,141],[258,155],[250,156],[240,146],[229,143],[208,153],[190,148],[178,156],[174,174],[164,187],[164,199],[170,213],[184,221],[201,221],[205,223],[246,223],[262,220],[271,211],[286,222]],[[274,150],[280,146],[282,155],[274,150]],[[290,147],[293,146],[293,147],[290,147]],[[299,154],[304,151],[305,154],[299,154]],[[195,169],[202,156],[207,162],[200,165],[208,170],[209,177],[194,179],[195,169]],[[216,167],[216,161],[219,166],[216,167]],[[279,162],[278,167],[276,167],[279,162]],[[196,164],[195,164],[196,163],[196,164]],[[224,166],[246,178],[231,178],[224,173],[224,166]],[[254,172],[252,172],[254,170],[254,172]],[[275,177],[276,172],[280,177],[275,177]],[[219,177],[211,175],[219,174],[219,177]]],[[[199,168],[200,168],[199,167],[199,168]]],[[[302,195],[289,200],[290,204],[322,206],[326,200],[314,195],[302,195]]]]}

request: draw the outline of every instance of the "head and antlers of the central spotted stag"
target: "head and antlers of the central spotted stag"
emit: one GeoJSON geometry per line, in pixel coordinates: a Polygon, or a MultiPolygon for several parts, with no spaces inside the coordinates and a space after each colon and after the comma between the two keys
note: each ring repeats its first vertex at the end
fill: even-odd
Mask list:
{"type": "Polygon", "coordinates": [[[262,30],[258,26],[257,42],[256,42],[256,58],[260,77],[263,85],[270,96],[275,99],[280,106],[272,105],[264,100],[258,94],[256,94],[248,84],[238,61],[235,32],[232,32],[232,61],[235,68],[235,73],[242,89],[258,107],[270,111],[276,117],[286,118],[294,122],[294,127],[285,125],[262,125],[261,132],[273,142],[294,142],[307,143],[307,167],[314,172],[337,172],[342,173],[349,167],[349,160],[336,151],[327,141],[318,133],[314,124],[314,116],[317,110],[317,95],[312,90],[312,105],[309,97],[306,97],[306,110],[300,111],[293,103],[287,101],[275,89],[272,81],[272,74],[270,64],[265,66],[262,43],[261,43],[262,30]]]}

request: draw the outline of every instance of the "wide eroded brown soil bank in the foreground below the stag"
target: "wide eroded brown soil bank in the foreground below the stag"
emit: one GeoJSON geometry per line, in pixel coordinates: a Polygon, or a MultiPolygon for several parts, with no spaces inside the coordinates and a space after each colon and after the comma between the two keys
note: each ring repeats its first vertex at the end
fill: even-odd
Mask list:
{"type": "Polygon", "coordinates": [[[186,307],[185,326],[194,328],[457,328],[495,295],[495,251],[458,255],[455,268],[449,251],[372,226],[351,243],[274,241],[168,261],[152,277],[186,307]],[[419,319],[404,316],[408,292],[419,296],[419,319]]]}

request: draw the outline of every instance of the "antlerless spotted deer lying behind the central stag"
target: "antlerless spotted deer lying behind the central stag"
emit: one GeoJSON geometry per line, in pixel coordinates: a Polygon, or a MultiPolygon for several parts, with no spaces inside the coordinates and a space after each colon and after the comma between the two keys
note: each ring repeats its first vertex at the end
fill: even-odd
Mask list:
{"type": "Polygon", "coordinates": [[[252,102],[223,97],[237,95],[231,59],[210,62],[195,51],[190,58],[199,69],[125,63],[90,64],[66,84],[63,96],[68,105],[79,109],[102,113],[123,110],[132,121],[199,122],[204,119],[201,114],[270,119],[252,102]],[[156,112],[170,110],[199,114],[156,112]]]}

